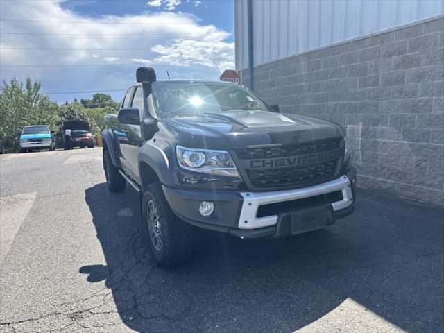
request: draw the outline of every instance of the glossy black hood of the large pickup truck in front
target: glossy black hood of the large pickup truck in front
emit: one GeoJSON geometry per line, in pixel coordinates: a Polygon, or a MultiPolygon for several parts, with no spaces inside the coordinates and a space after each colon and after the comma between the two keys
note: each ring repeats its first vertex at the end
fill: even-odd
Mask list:
{"type": "Polygon", "coordinates": [[[214,149],[299,144],[345,136],[344,128],[330,121],[267,111],[234,110],[161,121],[189,133],[191,142],[182,144],[214,149]]]}

